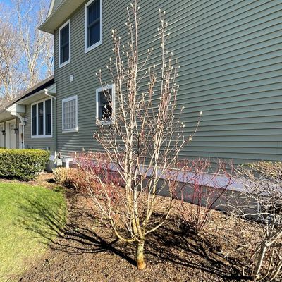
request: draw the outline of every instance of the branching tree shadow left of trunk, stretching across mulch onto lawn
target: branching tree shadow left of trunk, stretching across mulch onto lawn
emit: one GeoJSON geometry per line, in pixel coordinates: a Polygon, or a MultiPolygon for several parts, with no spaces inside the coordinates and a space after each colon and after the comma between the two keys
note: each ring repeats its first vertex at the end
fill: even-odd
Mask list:
{"type": "MultiPolygon", "coordinates": [[[[68,192],[68,197],[71,194],[76,193],[68,192]]],[[[90,225],[85,224],[94,221],[93,216],[85,212],[85,209],[70,207],[68,222],[62,224],[64,216],[56,212],[59,210],[56,205],[46,206],[39,200],[29,198],[24,202],[25,204],[19,204],[23,212],[18,218],[18,223],[40,238],[40,243],[49,243],[51,250],[68,252],[71,255],[112,252],[135,265],[131,257],[114,247],[117,239],[113,240],[113,236],[108,240],[104,239],[97,235],[90,225]]]]}

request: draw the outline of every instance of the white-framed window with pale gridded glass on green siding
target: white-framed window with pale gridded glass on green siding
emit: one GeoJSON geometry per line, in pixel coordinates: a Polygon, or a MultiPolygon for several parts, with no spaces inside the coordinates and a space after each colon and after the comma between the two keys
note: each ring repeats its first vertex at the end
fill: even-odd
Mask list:
{"type": "Polygon", "coordinates": [[[78,131],[78,96],[63,99],[63,132],[78,131]]]}

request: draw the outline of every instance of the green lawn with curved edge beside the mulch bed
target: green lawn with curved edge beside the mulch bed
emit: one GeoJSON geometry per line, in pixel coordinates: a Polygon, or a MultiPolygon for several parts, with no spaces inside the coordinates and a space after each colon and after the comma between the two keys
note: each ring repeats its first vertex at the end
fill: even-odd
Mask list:
{"type": "Polygon", "coordinates": [[[65,219],[61,190],[0,183],[0,282],[14,281],[28,269],[65,219]]]}

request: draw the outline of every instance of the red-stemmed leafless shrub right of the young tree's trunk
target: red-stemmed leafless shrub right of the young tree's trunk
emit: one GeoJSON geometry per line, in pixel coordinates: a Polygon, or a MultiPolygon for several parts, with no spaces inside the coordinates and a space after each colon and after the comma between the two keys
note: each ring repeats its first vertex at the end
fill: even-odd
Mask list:
{"type": "Polygon", "coordinates": [[[176,207],[183,222],[199,233],[209,221],[212,209],[221,205],[232,183],[233,166],[220,160],[212,164],[209,159],[194,159],[182,165],[182,169],[185,184],[178,188],[176,197],[180,202],[176,207]]]}

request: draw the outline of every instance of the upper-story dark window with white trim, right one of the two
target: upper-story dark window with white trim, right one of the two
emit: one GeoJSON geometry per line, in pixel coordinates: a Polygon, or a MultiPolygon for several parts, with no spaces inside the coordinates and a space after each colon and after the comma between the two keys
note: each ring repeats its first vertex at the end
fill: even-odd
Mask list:
{"type": "Polygon", "coordinates": [[[85,53],[102,44],[102,0],[85,5],[85,53]]]}

